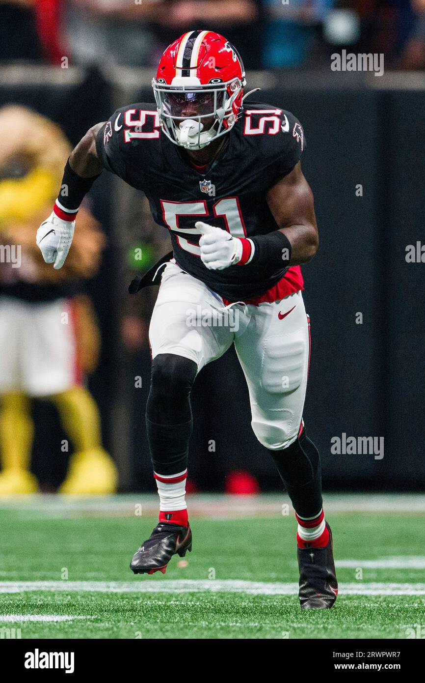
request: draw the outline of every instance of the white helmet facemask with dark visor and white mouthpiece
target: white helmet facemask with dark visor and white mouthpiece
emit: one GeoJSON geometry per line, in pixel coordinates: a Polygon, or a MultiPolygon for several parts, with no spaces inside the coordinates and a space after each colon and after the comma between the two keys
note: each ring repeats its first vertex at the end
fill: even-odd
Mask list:
{"type": "Polygon", "coordinates": [[[244,85],[240,79],[207,85],[194,76],[175,77],[172,85],[161,81],[152,80],[153,94],[162,130],[175,145],[201,150],[233,128],[233,104],[244,85]]]}

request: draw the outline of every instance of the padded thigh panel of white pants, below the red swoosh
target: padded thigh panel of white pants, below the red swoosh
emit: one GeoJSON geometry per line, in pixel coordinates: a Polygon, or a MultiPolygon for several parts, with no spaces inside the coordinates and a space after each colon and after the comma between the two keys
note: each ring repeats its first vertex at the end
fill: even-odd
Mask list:
{"type": "Polygon", "coordinates": [[[291,393],[301,385],[306,372],[306,342],[280,335],[265,341],[261,363],[261,386],[268,393],[291,393]]]}

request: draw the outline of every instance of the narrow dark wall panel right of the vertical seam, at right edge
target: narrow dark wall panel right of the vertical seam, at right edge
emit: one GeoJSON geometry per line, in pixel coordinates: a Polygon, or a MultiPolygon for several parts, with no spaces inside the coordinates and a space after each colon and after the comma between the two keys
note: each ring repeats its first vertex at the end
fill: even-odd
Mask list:
{"type": "Polygon", "coordinates": [[[424,111],[423,92],[386,95],[385,135],[389,140],[383,159],[388,186],[382,225],[385,233],[382,398],[389,475],[396,486],[421,489],[425,482],[424,111]],[[407,262],[409,245],[423,247],[420,262],[407,262]]]}

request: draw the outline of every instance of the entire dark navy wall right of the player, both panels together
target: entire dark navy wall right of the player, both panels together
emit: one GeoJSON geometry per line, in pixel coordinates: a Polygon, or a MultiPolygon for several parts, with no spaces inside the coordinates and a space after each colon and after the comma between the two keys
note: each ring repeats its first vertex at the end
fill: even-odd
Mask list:
{"type": "MultiPolygon", "coordinates": [[[[424,92],[263,92],[303,122],[320,248],[303,268],[312,318],[305,417],[325,488],[424,489],[424,92]],[[362,196],[356,186],[362,185],[362,196]],[[362,324],[356,324],[356,313],[362,324]],[[384,437],[384,456],[331,438],[384,437]]],[[[425,256],[424,256],[425,260],[425,256]]]]}

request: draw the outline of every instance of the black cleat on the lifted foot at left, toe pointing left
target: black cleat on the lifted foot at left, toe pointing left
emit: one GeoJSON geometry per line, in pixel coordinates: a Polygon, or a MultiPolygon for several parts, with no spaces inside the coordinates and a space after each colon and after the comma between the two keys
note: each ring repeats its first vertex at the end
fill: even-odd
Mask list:
{"type": "Polygon", "coordinates": [[[130,569],[134,574],[165,574],[171,557],[176,553],[184,557],[188,550],[192,550],[190,526],[180,527],[171,522],[160,522],[147,541],[134,553],[130,569]]]}

